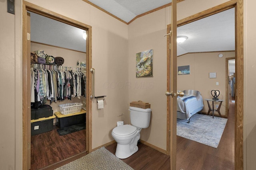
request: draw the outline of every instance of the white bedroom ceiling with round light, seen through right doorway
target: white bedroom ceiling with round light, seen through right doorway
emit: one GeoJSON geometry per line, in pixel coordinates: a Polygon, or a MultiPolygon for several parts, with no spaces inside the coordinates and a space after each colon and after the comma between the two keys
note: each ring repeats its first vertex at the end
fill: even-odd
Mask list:
{"type": "Polygon", "coordinates": [[[192,52],[235,50],[234,8],[177,28],[188,39],[177,45],[177,55],[192,52]]]}

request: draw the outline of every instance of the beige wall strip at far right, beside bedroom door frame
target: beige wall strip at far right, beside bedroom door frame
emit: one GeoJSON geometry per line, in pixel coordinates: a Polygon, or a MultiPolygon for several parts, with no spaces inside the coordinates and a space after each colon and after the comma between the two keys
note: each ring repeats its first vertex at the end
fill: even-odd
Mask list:
{"type": "Polygon", "coordinates": [[[244,167],[256,167],[256,32],[254,0],[244,1],[244,167]]]}

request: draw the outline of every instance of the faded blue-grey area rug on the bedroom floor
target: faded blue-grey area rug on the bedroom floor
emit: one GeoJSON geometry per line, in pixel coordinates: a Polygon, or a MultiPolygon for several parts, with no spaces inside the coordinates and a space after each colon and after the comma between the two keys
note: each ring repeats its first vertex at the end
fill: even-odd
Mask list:
{"type": "Polygon", "coordinates": [[[217,148],[228,119],[212,115],[195,114],[190,123],[177,119],[177,135],[217,148]]]}

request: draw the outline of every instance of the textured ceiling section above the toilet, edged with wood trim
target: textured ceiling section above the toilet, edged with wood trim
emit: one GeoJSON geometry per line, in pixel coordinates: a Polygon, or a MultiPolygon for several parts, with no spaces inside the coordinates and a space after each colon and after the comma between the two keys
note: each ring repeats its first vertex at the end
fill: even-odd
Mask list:
{"type": "Polygon", "coordinates": [[[169,4],[172,0],[88,0],[114,16],[131,21],[136,16],[169,4]]]}

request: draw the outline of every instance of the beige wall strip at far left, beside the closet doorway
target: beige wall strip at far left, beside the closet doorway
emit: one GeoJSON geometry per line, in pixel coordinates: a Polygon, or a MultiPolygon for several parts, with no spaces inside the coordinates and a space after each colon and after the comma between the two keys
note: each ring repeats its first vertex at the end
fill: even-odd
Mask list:
{"type": "MultiPolygon", "coordinates": [[[[20,2],[16,2],[20,12],[20,2]]],[[[20,17],[7,13],[6,1],[0,1],[0,165],[2,169],[21,167],[21,72],[20,17]],[[17,33],[17,34],[15,34],[17,33]],[[16,41],[15,41],[16,40],[16,41]],[[20,60],[18,60],[20,61],[20,60]]]]}

